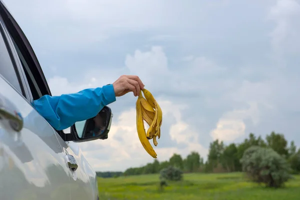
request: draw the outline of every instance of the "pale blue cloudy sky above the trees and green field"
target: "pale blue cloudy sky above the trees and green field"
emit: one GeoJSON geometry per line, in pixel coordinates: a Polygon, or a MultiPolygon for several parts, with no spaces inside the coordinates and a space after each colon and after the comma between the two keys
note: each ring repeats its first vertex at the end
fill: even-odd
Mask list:
{"type": "MultiPolygon", "coordinates": [[[[159,161],[192,150],[205,160],[209,142],[249,132],[300,146],[299,0],[3,1],[52,95],[140,77],[163,112],[159,161]]],[[[137,136],[136,99],[108,105],[108,139],[78,144],[95,170],[153,161],[137,136]]]]}

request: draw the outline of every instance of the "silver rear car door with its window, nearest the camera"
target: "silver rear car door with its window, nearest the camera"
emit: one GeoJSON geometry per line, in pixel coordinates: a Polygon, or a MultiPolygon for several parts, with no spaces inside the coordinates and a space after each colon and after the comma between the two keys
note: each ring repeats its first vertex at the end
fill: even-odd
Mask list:
{"type": "Polygon", "coordinates": [[[70,199],[70,173],[53,128],[28,101],[0,16],[0,199],[70,199]]]}

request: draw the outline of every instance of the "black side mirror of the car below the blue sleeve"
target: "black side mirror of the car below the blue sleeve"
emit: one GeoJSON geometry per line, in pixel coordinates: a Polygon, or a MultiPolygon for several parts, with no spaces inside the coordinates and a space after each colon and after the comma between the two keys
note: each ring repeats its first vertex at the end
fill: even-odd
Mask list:
{"type": "Polygon", "coordinates": [[[104,106],[95,117],[78,121],[71,126],[71,139],[76,142],[107,139],[112,119],[111,109],[104,106]]]}

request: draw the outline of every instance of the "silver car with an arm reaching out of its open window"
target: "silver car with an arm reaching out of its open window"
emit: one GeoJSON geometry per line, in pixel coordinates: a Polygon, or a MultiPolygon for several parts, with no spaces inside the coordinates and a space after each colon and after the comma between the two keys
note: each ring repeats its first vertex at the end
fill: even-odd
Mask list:
{"type": "Polygon", "coordinates": [[[38,59],[0,0],[0,199],[99,199],[96,172],[78,142],[107,139],[110,108],[100,111],[103,133],[88,134],[93,118],[64,132],[32,106],[45,94],[51,92],[38,59]]]}

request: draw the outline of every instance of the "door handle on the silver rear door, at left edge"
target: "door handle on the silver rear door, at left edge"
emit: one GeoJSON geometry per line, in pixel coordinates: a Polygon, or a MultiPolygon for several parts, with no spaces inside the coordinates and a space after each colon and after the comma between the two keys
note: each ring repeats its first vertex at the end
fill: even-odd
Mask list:
{"type": "Polygon", "coordinates": [[[16,107],[5,97],[0,96],[0,119],[6,118],[11,128],[20,131],[23,128],[23,118],[16,107]]]}

